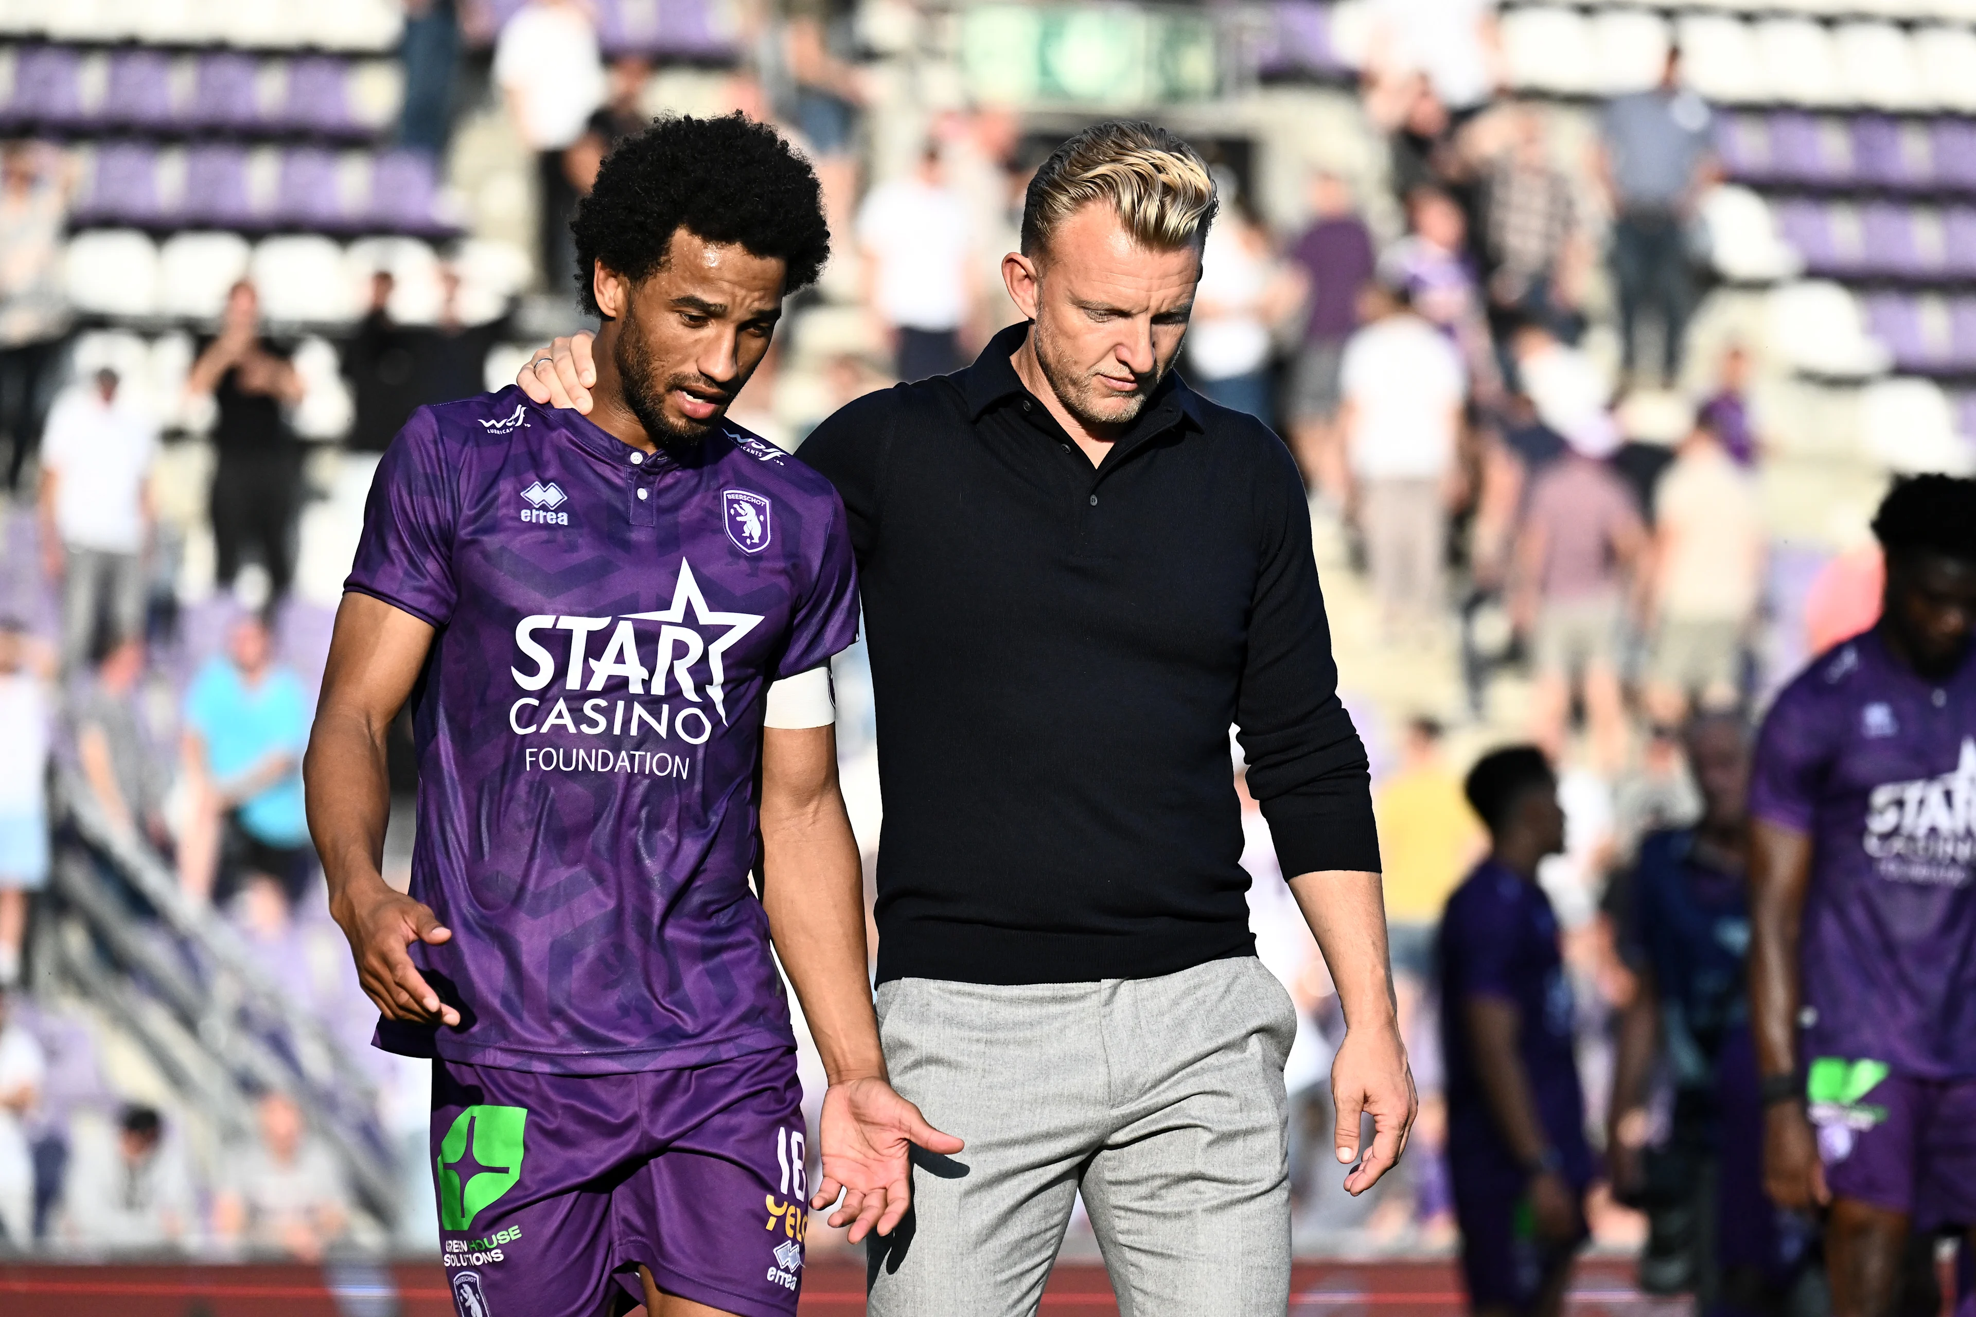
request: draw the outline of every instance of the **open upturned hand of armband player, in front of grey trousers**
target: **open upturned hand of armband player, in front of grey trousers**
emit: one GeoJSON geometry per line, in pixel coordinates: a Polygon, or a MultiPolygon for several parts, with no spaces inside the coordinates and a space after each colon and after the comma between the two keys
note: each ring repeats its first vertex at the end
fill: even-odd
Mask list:
{"type": "Polygon", "coordinates": [[[830,1224],[850,1222],[852,1244],[871,1230],[891,1234],[905,1216],[913,1201],[907,1159],[913,1143],[947,1155],[964,1147],[954,1135],[929,1125],[919,1108],[881,1078],[832,1084],[818,1125],[824,1183],[816,1187],[810,1208],[830,1206],[842,1191],[844,1202],[830,1214],[830,1224]]]}

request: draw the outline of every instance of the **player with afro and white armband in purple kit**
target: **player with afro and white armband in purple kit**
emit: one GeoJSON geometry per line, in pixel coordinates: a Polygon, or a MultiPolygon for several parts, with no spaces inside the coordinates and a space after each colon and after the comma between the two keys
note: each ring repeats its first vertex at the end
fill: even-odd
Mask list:
{"type": "Polygon", "coordinates": [[[433,1056],[460,1317],[786,1317],[810,1206],[842,1193],[832,1224],[885,1234],[909,1145],[960,1149],[891,1090],[871,1011],[828,683],[858,632],[844,511],[725,421],[828,229],[810,168],[739,115],[620,144],[573,229],[597,407],[504,389],[385,452],[310,825],[377,1045],[433,1056]],[[771,938],[830,1074],[814,1195],[771,938]]]}

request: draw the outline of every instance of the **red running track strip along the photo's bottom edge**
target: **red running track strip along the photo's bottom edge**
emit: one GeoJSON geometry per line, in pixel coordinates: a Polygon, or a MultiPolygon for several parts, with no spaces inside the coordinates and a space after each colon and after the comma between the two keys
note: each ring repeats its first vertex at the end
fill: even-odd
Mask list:
{"type": "MultiPolygon", "coordinates": [[[[346,1276],[273,1264],[0,1264],[0,1313],[6,1317],[346,1317],[389,1311],[377,1301],[391,1291],[399,1317],[453,1315],[445,1274],[419,1262],[346,1276]],[[340,1285],[342,1295],[332,1285],[340,1285]]],[[[1105,1270],[1095,1264],[1059,1266],[1043,1291],[1047,1317],[1114,1317],[1116,1311],[1105,1270]]],[[[1676,1317],[1686,1311],[1686,1301],[1638,1293],[1632,1266],[1610,1260],[1581,1264],[1571,1295],[1573,1317],[1676,1317]]],[[[858,1313],[864,1313],[862,1266],[818,1262],[808,1270],[802,1317],[858,1313]]],[[[1462,1295],[1448,1262],[1304,1262],[1296,1266],[1290,1313],[1456,1317],[1462,1295]]]]}

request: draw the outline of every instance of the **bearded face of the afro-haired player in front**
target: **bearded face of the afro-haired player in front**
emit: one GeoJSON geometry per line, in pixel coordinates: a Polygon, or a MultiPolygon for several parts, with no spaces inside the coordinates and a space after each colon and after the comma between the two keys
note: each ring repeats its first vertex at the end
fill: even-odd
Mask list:
{"type": "Polygon", "coordinates": [[[688,229],[674,231],[666,263],[638,282],[599,265],[601,391],[615,367],[624,407],[654,444],[700,440],[769,351],[786,272],[781,259],[688,229]]]}

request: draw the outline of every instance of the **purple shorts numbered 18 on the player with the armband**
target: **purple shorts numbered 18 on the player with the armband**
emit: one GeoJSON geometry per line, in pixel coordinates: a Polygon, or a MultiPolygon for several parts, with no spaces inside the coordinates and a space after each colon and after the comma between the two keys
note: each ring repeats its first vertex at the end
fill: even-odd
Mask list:
{"type": "Polygon", "coordinates": [[[597,1317],[660,1289],[790,1317],[808,1224],[794,1052],[684,1070],[433,1062],[441,1250],[458,1317],[597,1317]]]}

